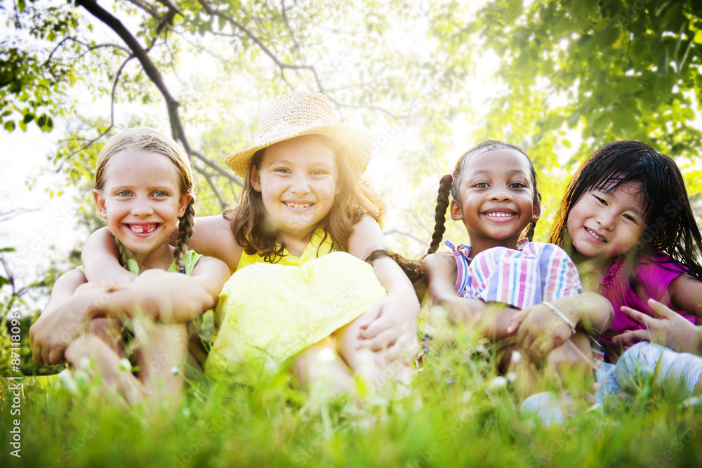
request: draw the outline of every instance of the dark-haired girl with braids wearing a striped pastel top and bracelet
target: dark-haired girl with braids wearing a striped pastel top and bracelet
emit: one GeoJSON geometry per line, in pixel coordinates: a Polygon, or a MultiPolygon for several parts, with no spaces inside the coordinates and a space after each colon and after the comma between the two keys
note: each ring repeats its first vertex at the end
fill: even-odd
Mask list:
{"type": "Polygon", "coordinates": [[[540,215],[536,171],[522,149],[497,141],[470,149],[439,185],[435,232],[423,260],[428,293],[450,323],[522,350],[532,369],[545,359],[557,372],[564,364],[583,368],[591,380],[595,363],[586,332],[606,329],[614,312],[604,297],[583,293],[564,250],[531,241],[540,215]],[[470,246],[447,241],[451,250],[435,253],[446,208],[463,222],[470,246]]]}

